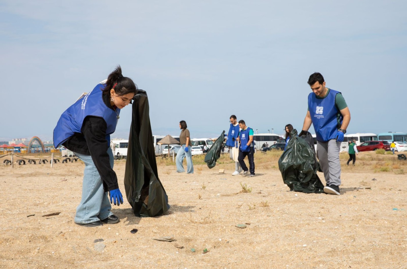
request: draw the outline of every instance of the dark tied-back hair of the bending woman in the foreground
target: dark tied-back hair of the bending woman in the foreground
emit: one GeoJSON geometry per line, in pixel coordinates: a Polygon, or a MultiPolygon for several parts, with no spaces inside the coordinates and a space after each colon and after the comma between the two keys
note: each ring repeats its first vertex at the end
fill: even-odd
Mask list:
{"type": "Polygon", "coordinates": [[[103,89],[103,94],[110,96],[110,90],[114,89],[118,96],[133,93],[137,94],[138,87],[134,82],[128,78],[123,77],[122,68],[117,66],[116,69],[109,74],[106,81],[106,87],[103,89]]]}

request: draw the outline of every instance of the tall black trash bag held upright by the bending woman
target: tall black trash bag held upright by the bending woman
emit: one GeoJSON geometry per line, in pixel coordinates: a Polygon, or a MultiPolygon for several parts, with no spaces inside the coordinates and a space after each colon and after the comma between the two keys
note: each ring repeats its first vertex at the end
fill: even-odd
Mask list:
{"type": "Polygon", "coordinates": [[[133,100],[124,180],[126,196],[137,217],[155,217],[165,213],[170,205],[158,178],[147,93],[138,90],[133,100]]]}

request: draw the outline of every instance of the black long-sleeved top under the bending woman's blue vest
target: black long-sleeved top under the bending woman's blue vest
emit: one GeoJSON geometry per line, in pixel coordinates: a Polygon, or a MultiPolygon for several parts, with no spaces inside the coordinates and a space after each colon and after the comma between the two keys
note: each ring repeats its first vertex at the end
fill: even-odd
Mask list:
{"type": "MultiPolygon", "coordinates": [[[[105,105],[114,110],[110,105],[109,96],[104,94],[102,98],[105,105]]],[[[71,151],[92,156],[93,163],[101,175],[103,188],[108,191],[117,189],[119,186],[107,154],[110,141],[106,140],[106,129],[107,124],[103,118],[87,116],[83,120],[81,133],[74,133],[62,145],[71,151]]]]}

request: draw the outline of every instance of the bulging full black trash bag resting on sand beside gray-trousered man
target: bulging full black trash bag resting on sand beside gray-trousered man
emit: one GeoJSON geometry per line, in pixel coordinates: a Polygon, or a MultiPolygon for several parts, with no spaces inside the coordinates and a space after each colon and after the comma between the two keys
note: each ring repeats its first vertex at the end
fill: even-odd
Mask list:
{"type": "Polygon", "coordinates": [[[293,129],[290,136],[287,149],[278,160],[283,182],[293,191],[324,193],[324,185],[317,175],[321,168],[311,133],[307,133],[304,139],[297,136],[297,130],[293,129]]]}

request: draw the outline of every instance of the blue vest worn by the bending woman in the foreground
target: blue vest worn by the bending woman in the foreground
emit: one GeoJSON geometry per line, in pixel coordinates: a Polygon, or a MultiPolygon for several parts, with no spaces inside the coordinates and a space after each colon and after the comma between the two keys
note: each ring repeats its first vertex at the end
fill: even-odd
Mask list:
{"type": "Polygon", "coordinates": [[[116,112],[120,114],[120,109],[116,108],[116,112],[114,112],[106,106],[102,98],[104,88],[105,84],[96,85],[93,90],[62,113],[54,129],[55,148],[73,136],[74,133],[81,133],[83,120],[87,116],[101,117],[106,121],[106,139],[110,140],[110,134],[116,130],[118,116],[116,112]]]}

